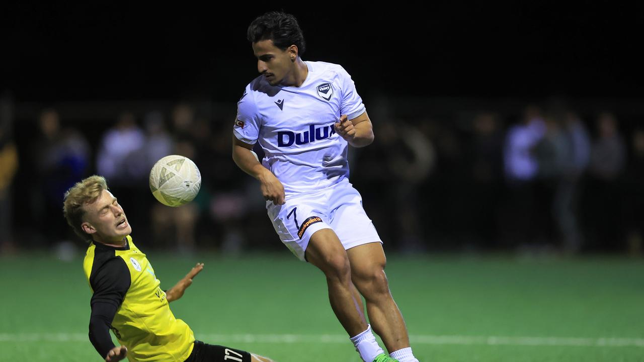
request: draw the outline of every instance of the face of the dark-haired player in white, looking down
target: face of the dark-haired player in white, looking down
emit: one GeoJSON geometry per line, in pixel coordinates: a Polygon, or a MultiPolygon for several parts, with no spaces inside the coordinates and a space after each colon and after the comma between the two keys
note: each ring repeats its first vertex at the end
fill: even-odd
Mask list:
{"type": "Polygon", "coordinates": [[[271,86],[281,83],[295,68],[296,51],[294,46],[281,50],[272,40],[252,43],[252,51],[257,57],[257,70],[266,77],[271,86]]]}

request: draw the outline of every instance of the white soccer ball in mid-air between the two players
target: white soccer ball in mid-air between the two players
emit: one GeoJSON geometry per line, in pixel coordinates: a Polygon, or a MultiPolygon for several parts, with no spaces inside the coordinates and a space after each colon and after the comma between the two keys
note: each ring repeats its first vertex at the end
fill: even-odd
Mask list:
{"type": "Polygon", "coordinates": [[[150,171],[150,191],[161,204],[181,206],[199,193],[201,173],[187,157],[169,155],[156,161],[150,171]]]}

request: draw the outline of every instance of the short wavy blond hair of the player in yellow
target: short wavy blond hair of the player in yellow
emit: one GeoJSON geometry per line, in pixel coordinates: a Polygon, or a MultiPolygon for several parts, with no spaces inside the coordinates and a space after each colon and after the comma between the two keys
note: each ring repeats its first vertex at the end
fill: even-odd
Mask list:
{"type": "Polygon", "coordinates": [[[88,242],[91,240],[81,227],[84,221],[83,216],[85,216],[83,205],[95,202],[103,190],[107,189],[108,183],[105,178],[93,175],[81,180],[81,182],[77,182],[65,193],[65,198],[62,202],[62,214],[64,214],[67,224],[71,226],[71,229],[78,236],[81,236],[82,240],[88,242]]]}

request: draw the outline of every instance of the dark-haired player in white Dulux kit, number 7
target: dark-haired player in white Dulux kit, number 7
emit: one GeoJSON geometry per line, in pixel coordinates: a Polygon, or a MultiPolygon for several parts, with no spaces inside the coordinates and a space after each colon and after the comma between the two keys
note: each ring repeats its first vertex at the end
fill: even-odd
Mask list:
{"type": "Polygon", "coordinates": [[[301,60],[305,41],[293,15],[261,15],[248,39],[261,75],[238,102],[232,158],[260,181],[284,245],[327,276],[331,307],[363,361],[418,362],[389,291],[382,241],[348,180],[348,145],[374,140],[354,82],[337,64],[301,60]]]}

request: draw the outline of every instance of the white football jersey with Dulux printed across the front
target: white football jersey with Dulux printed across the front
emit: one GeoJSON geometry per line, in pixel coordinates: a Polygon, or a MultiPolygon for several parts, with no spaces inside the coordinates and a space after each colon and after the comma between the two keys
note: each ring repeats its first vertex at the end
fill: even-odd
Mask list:
{"type": "Polygon", "coordinates": [[[334,128],[341,115],[365,112],[350,75],[337,64],[309,62],[299,87],[271,86],[263,75],[237,103],[233,133],[242,142],[260,142],[264,167],[288,194],[348,181],[348,143],[334,128]]]}

